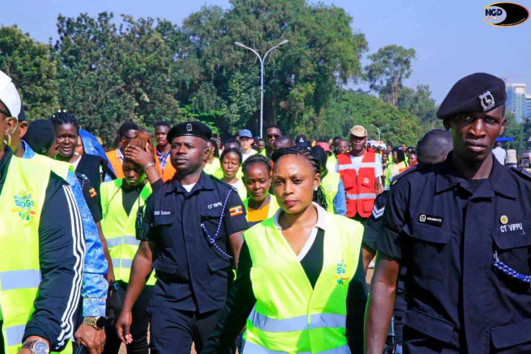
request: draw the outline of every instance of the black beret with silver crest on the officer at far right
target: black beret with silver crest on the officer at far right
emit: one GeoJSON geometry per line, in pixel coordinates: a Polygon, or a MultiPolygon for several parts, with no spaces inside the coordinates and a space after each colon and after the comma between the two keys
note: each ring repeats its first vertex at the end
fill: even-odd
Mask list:
{"type": "Polygon", "coordinates": [[[463,77],[451,88],[437,111],[439,119],[448,119],[461,114],[486,112],[505,103],[505,82],[486,73],[463,77]]]}

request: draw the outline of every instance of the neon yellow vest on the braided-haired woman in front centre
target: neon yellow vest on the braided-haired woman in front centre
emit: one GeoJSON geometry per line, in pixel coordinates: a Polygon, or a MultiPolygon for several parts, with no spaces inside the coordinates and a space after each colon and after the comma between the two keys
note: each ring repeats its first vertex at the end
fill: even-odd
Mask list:
{"type": "Polygon", "coordinates": [[[247,318],[244,351],[350,353],[346,300],[362,235],[361,223],[326,213],[323,267],[312,289],[273,218],[245,231],[256,304],[247,318]]]}

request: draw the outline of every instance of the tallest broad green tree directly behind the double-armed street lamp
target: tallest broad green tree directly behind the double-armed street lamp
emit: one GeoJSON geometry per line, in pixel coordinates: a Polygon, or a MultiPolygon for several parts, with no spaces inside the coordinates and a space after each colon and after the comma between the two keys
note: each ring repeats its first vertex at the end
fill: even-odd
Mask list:
{"type": "Polygon", "coordinates": [[[338,84],[361,75],[359,57],[367,44],[363,34],[352,32],[352,18],[341,8],[308,5],[304,0],[233,0],[231,4],[227,11],[204,6],[191,14],[181,29],[189,43],[179,51],[179,56],[186,57],[182,69],[196,73],[192,77],[180,71],[184,82],[179,86],[186,91],[180,92],[179,100],[189,103],[201,82],[212,82],[225,103],[218,109],[229,109],[228,125],[240,125],[229,130],[254,126],[259,114],[256,90],[242,90],[258,87],[258,59],[236,47],[235,41],[263,56],[281,40],[289,40],[272,51],[265,63],[265,125],[290,127],[305,119],[305,114],[320,114],[338,84]]]}

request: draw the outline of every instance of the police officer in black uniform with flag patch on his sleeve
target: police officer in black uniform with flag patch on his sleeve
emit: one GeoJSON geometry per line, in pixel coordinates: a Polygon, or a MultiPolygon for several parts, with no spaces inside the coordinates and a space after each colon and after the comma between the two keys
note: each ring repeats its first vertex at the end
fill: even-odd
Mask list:
{"type": "Polygon", "coordinates": [[[153,192],[144,220],[137,220],[142,241],[116,327],[124,342],[132,341],[131,307],[155,269],[148,307],[151,353],[190,354],[192,341],[201,351],[225,304],[243,243],[247,221],[238,193],[202,171],[211,136],[200,122],[170,129],[176,174],[153,192]]]}

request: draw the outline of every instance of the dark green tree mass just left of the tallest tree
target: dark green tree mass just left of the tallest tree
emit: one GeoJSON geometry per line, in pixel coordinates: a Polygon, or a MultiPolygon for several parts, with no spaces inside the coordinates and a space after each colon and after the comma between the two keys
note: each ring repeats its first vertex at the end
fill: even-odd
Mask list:
{"type": "Polygon", "coordinates": [[[108,147],[126,120],[151,132],[158,120],[182,120],[176,99],[175,27],[127,15],[117,26],[113,18],[106,12],[96,18],[59,15],[55,45],[61,59],[61,106],[108,147]]]}

